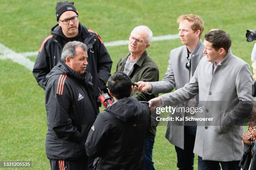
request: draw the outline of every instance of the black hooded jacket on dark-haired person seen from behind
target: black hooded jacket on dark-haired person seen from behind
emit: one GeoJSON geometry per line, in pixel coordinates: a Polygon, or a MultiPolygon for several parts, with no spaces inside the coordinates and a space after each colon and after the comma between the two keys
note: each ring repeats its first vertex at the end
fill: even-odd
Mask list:
{"type": "Polygon", "coordinates": [[[143,169],[149,114],[147,104],[125,97],[97,116],[85,144],[88,156],[100,157],[97,170],[143,169]]]}

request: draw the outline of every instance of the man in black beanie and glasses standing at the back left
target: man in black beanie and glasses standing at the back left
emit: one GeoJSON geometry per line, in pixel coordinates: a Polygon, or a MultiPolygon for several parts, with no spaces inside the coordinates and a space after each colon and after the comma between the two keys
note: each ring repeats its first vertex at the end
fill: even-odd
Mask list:
{"type": "Polygon", "coordinates": [[[67,42],[76,40],[87,45],[86,71],[92,74],[95,96],[98,96],[98,87],[106,84],[112,67],[112,60],[105,45],[96,32],[79,23],[74,2],[57,2],[56,18],[58,24],[51,28],[51,35],[41,43],[33,67],[36,81],[45,89],[46,75],[61,59],[62,48],[67,42]]]}

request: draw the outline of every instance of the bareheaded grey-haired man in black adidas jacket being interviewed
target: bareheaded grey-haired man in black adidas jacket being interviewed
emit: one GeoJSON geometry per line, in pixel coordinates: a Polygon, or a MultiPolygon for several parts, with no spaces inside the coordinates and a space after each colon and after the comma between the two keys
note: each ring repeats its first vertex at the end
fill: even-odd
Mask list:
{"type": "Polygon", "coordinates": [[[61,61],[46,76],[46,155],[51,170],[87,170],[84,144],[97,106],[86,68],[86,45],[72,41],[64,46],[61,61]]]}

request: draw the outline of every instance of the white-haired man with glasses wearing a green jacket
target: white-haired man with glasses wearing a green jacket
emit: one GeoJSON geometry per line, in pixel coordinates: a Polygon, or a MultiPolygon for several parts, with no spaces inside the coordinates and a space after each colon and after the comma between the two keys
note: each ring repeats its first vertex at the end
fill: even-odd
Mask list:
{"type": "MultiPolygon", "coordinates": [[[[132,82],[158,81],[159,70],[156,63],[148,56],[146,49],[150,46],[152,31],[145,25],[134,28],[129,36],[129,54],[122,57],[117,64],[116,71],[125,72],[132,82]]],[[[158,94],[149,95],[146,92],[133,90],[131,97],[139,101],[148,101],[157,97],[158,94]]],[[[144,169],[154,170],[152,152],[156,127],[150,126],[144,141],[144,169]]]]}

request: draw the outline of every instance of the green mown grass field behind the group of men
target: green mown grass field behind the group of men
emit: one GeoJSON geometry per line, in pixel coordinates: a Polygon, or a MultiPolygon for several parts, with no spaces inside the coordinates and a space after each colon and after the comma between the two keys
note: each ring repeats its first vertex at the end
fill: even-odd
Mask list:
{"type": "MultiPolygon", "coordinates": [[[[55,6],[53,0],[0,0],[0,43],[15,52],[38,50],[40,42],[56,24],[55,6]]],[[[126,40],[138,25],[147,25],[154,36],[177,34],[177,17],[196,14],[205,22],[203,35],[211,28],[227,31],[232,39],[233,54],[251,64],[254,43],[246,42],[245,33],[247,29],[256,29],[254,1],[77,0],[75,6],[79,21],[98,32],[104,42],[126,40]]],[[[152,42],[148,48],[148,54],[159,66],[161,78],[168,65],[169,51],[180,45],[179,39],[164,40],[152,42]]],[[[107,49],[113,60],[113,73],[128,48],[123,45],[107,49]]],[[[3,55],[1,49],[0,55],[3,55]]],[[[28,58],[34,61],[36,56],[28,58]]],[[[0,60],[0,102],[0,161],[32,161],[32,168],[20,169],[49,170],[45,154],[44,91],[31,70],[12,60],[0,60]]],[[[165,126],[157,129],[154,162],[157,170],[175,170],[176,153],[164,138],[165,130],[165,126]]]]}

